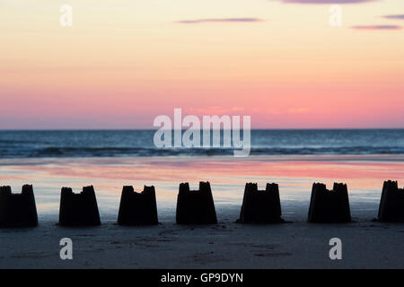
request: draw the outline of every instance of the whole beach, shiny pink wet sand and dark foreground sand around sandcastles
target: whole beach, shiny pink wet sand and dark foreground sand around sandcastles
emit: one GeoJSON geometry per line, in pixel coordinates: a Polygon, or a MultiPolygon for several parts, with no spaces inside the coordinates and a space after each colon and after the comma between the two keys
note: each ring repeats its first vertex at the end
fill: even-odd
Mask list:
{"type": "Polygon", "coordinates": [[[0,229],[0,268],[403,268],[404,224],[373,222],[383,180],[404,179],[402,156],[223,158],[8,159],[0,181],[20,192],[33,184],[39,226],[0,229]],[[210,181],[218,224],[175,224],[180,182],[210,181]],[[246,182],[279,184],[277,225],[238,224],[246,182]],[[352,223],[307,223],[313,182],[347,183],[352,223]],[[101,226],[57,225],[61,187],[93,185],[101,226]],[[116,224],[123,185],[156,188],[159,225],[116,224]],[[73,240],[62,260],[60,239],[73,240]],[[342,260],[329,258],[329,239],[342,240],[342,260]]]}

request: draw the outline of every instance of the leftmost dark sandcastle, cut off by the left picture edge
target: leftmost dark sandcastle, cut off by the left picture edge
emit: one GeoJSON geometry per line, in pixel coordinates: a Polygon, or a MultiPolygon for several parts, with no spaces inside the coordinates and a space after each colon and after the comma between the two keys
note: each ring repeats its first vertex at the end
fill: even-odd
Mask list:
{"type": "Polygon", "coordinates": [[[22,187],[21,194],[13,194],[11,187],[0,187],[0,227],[32,227],[38,225],[33,188],[22,187]]]}

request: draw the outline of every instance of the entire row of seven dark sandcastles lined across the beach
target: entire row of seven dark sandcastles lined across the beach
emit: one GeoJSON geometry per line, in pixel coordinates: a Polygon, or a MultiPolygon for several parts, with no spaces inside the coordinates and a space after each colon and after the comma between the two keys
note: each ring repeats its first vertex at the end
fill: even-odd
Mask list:
{"type": "MultiPolygon", "coordinates": [[[[259,190],[257,184],[247,183],[242,200],[241,223],[281,223],[281,204],[277,184],[267,184],[259,190]]],[[[380,222],[404,222],[404,189],[397,181],[385,181],[379,206],[380,222]]],[[[198,190],[189,190],[188,183],[180,184],[177,198],[178,224],[217,223],[215,203],[209,182],[200,182],[198,190]]],[[[346,184],[334,184],[328,190],[321,183],[312,186],[308,222],[351,222],[346,184]]],[[[145,187],[141,193],[133,187],[123,187],[120,198],[119,225],[157,224],[157,204],[154,187],[145,187]]],[[[75,194],[63,187],[60,195],[59,225],[100,225],[100,213],[94,188],[83,187],[75,194]]],[[[22,187],[21,194],[13,194],[11,187],[0,187],[0,227],[30,227],[38,225],[38,214],[32,186],[22,187]]]]}

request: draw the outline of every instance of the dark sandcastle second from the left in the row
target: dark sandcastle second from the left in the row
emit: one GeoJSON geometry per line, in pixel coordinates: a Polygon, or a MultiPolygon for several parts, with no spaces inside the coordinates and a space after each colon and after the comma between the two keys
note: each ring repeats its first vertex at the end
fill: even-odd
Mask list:
{"type": "Polygon", "coordinates": [[[70,187],[62,187],[59,225],[94,226],[100,224],[100,213],[98,212],[94,187],[83,187],[80,194],[75,194],[70,187]]]}

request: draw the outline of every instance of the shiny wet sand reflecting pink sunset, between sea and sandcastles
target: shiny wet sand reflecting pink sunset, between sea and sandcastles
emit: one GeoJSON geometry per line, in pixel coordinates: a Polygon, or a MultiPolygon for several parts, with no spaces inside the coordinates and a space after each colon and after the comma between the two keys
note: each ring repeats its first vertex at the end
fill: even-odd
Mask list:
{"type": "MultiPolygon", "coordinates": [[[[105,158],[0,161],[1,185],[34,185],[38,208],[55,213],[61,187],[94,185],[101,207],[114,210],[124,185],[156,187],[159,208],[175,204],[181,182],[209,181],[218,205],[241,204],[246,182],[279,184],[282,201],[307,201],[313,182],[347,183],[352,200],[380,199],[384,180],[404,179],[404,161],[395,157],[344,156],[223,158],[105,158]]],[[[101,208],[102,209],[102,208],[101,208]]]]}

